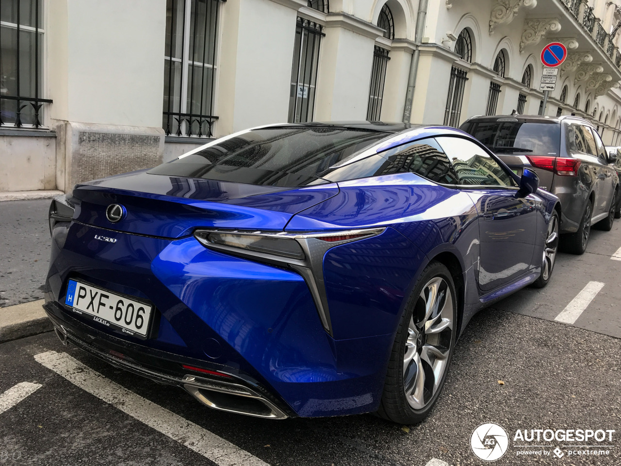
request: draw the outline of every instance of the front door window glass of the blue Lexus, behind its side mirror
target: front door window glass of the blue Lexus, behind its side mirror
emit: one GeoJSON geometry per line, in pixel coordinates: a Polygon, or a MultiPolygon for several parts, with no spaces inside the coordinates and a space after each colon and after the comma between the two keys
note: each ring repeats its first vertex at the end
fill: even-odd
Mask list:
{"type": "Polygon", "coordinates": [[[513,178],[474,142],[461,137],[436,139],[453,163],[460,185],[515,186],[513,178]]]}

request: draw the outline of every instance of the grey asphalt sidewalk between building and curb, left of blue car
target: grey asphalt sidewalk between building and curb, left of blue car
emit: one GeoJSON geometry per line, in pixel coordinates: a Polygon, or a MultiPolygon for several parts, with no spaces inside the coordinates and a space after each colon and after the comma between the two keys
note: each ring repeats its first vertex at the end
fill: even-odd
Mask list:
{"type": "Polygon", "coordinates": [[[0,308],[43,298],[50,199],[0,202],[0,308]]]}

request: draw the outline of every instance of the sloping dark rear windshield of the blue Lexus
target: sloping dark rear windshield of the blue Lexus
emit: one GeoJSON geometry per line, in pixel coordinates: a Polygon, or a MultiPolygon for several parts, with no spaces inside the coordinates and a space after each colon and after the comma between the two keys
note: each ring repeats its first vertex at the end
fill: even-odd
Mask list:
{"type": "Polygon", "coordinates": [[[267,186],[328,183],[322,175],[330,173],[332,165],[389,134],[327,126],[255,129],[182,155],[149,173],[267,186]]]}

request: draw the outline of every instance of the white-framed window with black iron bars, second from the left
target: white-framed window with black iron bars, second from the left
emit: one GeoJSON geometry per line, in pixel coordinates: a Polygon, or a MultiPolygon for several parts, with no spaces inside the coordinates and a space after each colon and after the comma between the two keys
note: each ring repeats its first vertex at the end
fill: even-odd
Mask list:
{"type": "Polygon", "coordinates": [[[213,135],[219,10],[220,0],[166,1],[166,135],[213,135]]]}

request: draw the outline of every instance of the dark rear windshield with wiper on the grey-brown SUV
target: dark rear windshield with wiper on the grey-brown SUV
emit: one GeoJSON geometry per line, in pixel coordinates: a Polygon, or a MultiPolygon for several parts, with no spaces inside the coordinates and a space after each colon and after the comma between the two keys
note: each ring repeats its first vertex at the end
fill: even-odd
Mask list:
{"type": "Polygon", "coordinates": [[[495,153],[558,156],[561,152],[558,122],[474,121],[462,129],[495,153]]]}

